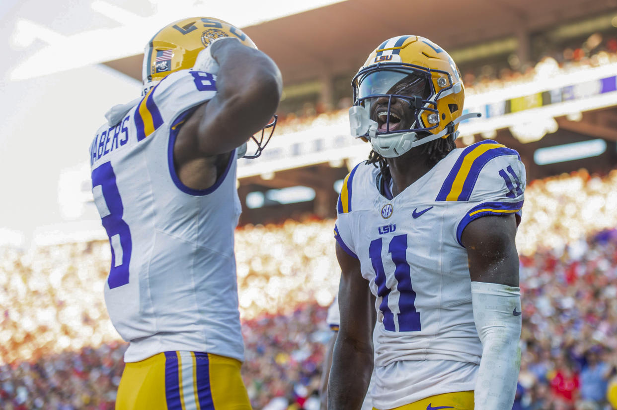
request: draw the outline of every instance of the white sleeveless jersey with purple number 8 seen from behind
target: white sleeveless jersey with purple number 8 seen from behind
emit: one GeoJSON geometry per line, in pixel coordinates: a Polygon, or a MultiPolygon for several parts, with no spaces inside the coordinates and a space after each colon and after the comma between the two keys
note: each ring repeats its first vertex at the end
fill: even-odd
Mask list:
{"type": "Polygon", "coordinates": [[[234,257],[241,205],[236,156],[205,190],[180,182],[173,145],[215,95],[215,76],[172,73],[90,148],[94,202],[112,249],[109,316],[130,342],[125,361],[170,350],[243,360],[234,257]]]}

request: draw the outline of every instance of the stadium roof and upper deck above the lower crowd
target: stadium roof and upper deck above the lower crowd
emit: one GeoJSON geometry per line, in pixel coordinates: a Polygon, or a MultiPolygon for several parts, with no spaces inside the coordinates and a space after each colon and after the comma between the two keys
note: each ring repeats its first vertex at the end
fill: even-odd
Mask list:
{"type": "MultiPolygon", "coordinates": [[[[462,71],[465,111],[482,118],[460,126],[460,146],[514,148],[528,180],[606,173],[617,164],[616,26],[615,1],[348,0],[242,28],[280,67],[284,92],[267,150],[239,164],[241,223],[334,216],[336,182],[370,151],[349,135],[350,79],[402,34],[433,40],[462,71]]],[[[106,65],[141,79],[142,60],[106,65]]]]}

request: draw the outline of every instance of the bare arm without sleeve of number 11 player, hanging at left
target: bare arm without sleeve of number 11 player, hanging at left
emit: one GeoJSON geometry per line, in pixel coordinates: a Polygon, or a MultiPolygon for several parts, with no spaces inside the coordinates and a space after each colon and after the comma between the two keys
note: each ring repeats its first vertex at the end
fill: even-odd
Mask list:
{"type": "Polygon", "coordinates": [[[328,409],[360,409],[373,372],[375,307],[360,261],[336,244],[341,265],[339,310],[341,326],[334,344],[328,386],[328,409]]]}

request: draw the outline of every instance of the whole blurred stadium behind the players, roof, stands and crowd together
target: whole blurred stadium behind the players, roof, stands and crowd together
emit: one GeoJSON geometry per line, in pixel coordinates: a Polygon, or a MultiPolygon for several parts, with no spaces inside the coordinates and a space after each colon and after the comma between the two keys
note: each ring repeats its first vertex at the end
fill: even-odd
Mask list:
{"type": "MultiPolygon", "coordinates": [[[[617,0],[347,0],[242,30],[284,78],[270,145],[238,167],[243,378],[254,408],[315,408],[338,283],[337,188],[370,151],[350,137],[350,79],[384,39],[418,34],[448,50],[465,109],[482,113],[461,124],[457,143],[515,148],[531,181],[516,239],[523,396],[551,408],[557,371],[578,372],[593,351],[613,366],[604,390],[617,409],[617,0]]],[[[141,81],[142,59],[104,64],[141,81]]],[[[87,167],[69,171],[65,185],[91,202],[87,167]]],[[[109,242],[90,227],[28,250],[0,246],[0,408],[114,408],[126,345],[102,297],[109,242]]],[[[574,408],[572,396],[559,400],[574,408]]]]}

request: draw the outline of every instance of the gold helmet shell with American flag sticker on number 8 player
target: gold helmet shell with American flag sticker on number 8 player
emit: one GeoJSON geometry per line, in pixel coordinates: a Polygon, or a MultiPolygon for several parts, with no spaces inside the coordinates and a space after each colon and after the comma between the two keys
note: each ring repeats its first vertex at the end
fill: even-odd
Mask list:
{"type": "Polygon", "coordinates": [[[184,18],[162,28],[144,50],[143,94],[168,74],[193,68],[197,54],[220,37],[235,37],[245,46],[257,48],[242,30],[218,18],[184,18]]]}

